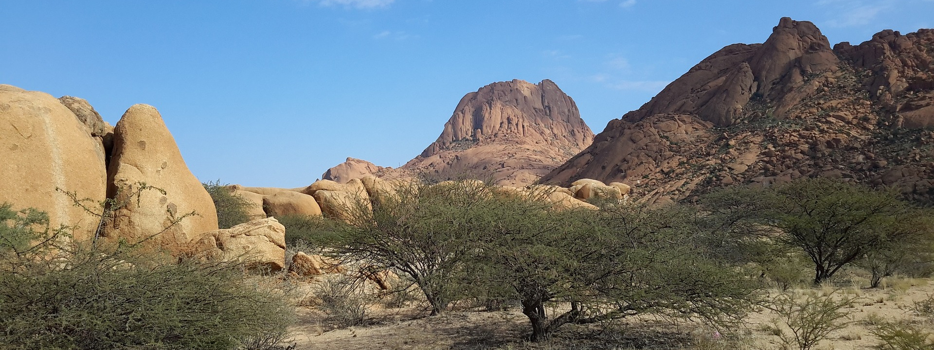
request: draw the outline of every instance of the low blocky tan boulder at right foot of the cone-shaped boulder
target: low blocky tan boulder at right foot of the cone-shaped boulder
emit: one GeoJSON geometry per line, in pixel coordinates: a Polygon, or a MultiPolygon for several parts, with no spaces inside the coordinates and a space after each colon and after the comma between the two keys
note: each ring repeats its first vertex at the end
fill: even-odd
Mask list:
{"type": "Polygon", "coordinates": [[[201,257],[243,261],[271,272],[285,268],[286,228],[275,217],[261,218],[230,229],[207,231],[193,244],[201,257]]]}

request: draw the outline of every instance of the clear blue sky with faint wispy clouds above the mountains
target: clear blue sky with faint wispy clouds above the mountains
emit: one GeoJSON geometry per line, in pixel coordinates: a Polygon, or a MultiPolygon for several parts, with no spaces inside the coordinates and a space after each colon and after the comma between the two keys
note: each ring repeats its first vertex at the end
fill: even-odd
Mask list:
{"type": "Polygon", "coordinates": [[[595,133],[779,18],[831,44],[934,27],[934,0],[0,0],[0,83],[154,105],[204,181],[298,187],[399,166],[465,93],[549,78],[595,133]]]}

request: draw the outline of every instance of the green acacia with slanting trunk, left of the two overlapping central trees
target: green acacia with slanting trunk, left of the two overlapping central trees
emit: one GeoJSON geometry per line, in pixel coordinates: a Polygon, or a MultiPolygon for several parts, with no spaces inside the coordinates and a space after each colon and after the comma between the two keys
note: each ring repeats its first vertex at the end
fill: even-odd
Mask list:
{"type": "Polygon", "coordinates": [[[365,200],[345,208],[350,222],[329,228],[331,239],[321,244],[343,263],[405,274],[431,304],[431,315],[439,315],[460,289],[456,275],[472,252],[467,237],[489,193],[471,181],[399,186],[374,196],[372,210],[365,200]]]}

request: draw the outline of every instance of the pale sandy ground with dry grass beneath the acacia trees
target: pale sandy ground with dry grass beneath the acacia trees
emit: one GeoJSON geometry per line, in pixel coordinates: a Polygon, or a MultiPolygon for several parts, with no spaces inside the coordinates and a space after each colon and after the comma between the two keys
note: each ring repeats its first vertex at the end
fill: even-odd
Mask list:
{"type": "MultiPolygon", "coordinates": [[[[878,340],[870,333],[872,322],[913,320],[929,329],[931,320],[914,312],[914,303],[934,296],[934,282],[905,279],[892,286],[877,289],[858,287],[815,288],[801,291],[822,291],[853,296],[858,299],[846,308],[851,322],[822,342],[824,349],[876,349],[878,340]]],[[[777,292],[777,291],[773,291],[777,292]]],[[[595,327],[567,325],[549,344],[528,344],[522,338],[528,333],[528,320],[515,308],[505,312],[455,311],[446,315],[425,317],[423,310],[412,308],[375,308],[367,324],[335,328],[325,315],[313,308],[300,310],[300,324],[294,330],[295,349],[695,349],[690,345],[699,338],[708,340],[703,349],[779,349],[779,337],[771,325],[776,315],[762,309],[744,320],[744,326],[729,329],[724,334],[742,338],[741,345],[713,340],[713,330],[699,325],[671,324],[646,320],[627,321],[622,328],[609,331],[595,327]],[[622,329],[622,330],[620,330],[622,329]],[[720,344],[718,344],[718,342],[720,344]]],[[[934,348],[932,348],[934,349],[934,348]]]]}

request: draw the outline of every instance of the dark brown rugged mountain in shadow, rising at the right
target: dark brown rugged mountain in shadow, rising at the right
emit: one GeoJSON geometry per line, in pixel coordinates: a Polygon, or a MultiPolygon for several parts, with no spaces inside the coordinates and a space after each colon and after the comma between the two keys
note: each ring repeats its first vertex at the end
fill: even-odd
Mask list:
{"type": "Polygon", "coordinates": [[[644,202],[827,176],[934,193],[934,31],[857,46],[782,19],[763,44],[720,49],[540,183],[622,182],[644,202]]]}

